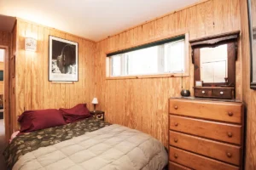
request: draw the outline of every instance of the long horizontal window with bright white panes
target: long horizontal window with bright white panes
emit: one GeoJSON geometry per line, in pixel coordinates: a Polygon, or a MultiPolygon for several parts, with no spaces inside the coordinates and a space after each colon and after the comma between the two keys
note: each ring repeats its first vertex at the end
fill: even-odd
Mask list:
{"type": "Polygon", "coordinates": [[[183,36],[108,54],[109,77],[183,73],[186,70],[185,51],[183,36]]]}

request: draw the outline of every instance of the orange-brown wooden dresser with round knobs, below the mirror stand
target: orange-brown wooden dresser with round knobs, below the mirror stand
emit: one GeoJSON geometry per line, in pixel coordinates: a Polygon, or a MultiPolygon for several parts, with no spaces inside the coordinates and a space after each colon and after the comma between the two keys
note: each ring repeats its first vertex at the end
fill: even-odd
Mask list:
{"type": "Polygon", "coordinates": [[[241,102],[169,99],[169,113],[169,170],[242,169],[241,102]]]}

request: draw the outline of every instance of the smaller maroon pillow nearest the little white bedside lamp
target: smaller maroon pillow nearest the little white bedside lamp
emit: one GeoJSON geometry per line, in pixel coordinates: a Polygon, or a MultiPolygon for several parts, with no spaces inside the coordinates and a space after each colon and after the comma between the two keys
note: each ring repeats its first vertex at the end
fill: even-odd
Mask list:
{"type": "Polygon", "coordinates": [[[77,122],[91,116],[86,104],[79,104],[71,109],[61,108],[60,111],[67,123],[77,122]]]}

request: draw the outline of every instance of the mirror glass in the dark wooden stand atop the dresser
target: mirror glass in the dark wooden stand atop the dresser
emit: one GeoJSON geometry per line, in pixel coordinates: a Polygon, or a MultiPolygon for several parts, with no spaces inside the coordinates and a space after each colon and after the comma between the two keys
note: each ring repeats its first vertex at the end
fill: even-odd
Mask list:
{"type": "Polygon", "coordinates": [[[225,82],[228,77],[228,46],[200,48],[201,81],[225,82]]]}

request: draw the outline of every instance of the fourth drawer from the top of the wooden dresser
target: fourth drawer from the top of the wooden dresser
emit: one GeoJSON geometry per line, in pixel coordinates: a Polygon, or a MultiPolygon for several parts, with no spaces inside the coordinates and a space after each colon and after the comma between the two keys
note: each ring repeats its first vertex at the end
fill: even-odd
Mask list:
{"type": "Polygon", "coordinates": [[[199,156],[188,151],[179,150],[172,146],[169,148],[169,158],[171,161],[196,170],[239,170],[239,167],[199,156]]]}

